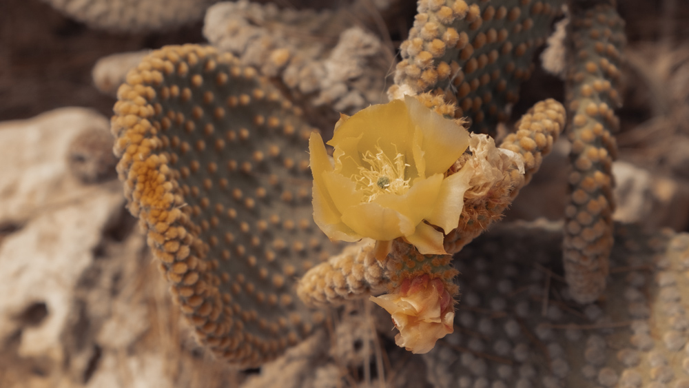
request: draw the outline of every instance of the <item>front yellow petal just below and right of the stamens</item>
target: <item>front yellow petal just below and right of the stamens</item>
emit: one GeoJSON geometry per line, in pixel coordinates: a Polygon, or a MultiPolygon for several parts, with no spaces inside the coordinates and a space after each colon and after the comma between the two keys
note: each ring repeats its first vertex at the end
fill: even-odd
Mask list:
{"type": "Polygon", "coordinates": [[[404,214],[416,225],[433,212],[441,185],[442,174],[416,178],[408,192],[402,195],[380,194],[373,202],[404,214]]]}

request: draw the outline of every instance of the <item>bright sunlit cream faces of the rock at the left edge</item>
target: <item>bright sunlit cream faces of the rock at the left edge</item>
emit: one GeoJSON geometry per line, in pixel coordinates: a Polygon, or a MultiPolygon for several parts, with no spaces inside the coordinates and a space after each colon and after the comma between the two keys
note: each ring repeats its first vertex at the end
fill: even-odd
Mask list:
{"type": "Polygon", "coordinates": [[[45,305],[40,325],[23,329],[19,354],[62,360],[61,332],[72,289],[93,261],[93,251],[123,195],[117,185],[83,186],[68,172],[72,138],[107,119],[91,110],[65,108],[34,119],[0,123],[0,223],[19,231],[0,245],[0,338],[21,325],[28,309],[45,305]]]}

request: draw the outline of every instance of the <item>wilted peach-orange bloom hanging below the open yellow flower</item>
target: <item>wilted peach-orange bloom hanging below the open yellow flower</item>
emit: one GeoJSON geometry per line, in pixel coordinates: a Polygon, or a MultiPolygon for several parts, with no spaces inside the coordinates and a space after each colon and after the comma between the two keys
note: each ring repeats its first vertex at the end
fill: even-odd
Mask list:
{"type": "Polygon", "coordinates": [[[405,279],[397,294],[371,296],[387,310],[400,334],[395,343],[416,354],[427,353],[435,341],[453,331],[455,312],[452,297],[442,280],[428,274],[405,279]]]}

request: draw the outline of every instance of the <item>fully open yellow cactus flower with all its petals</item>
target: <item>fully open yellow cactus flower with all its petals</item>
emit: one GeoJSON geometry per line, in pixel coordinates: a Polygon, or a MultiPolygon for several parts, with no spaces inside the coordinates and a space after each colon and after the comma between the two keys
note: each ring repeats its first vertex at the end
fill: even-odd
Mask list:
{"type": "Polygon", "coordinates": [[[431,225],[448,233],[459,222],[472,174],[446,172],[469,145],[464,127],[407,96],[342,114],[328,144],[332,159],[311,134],[313,218],[329,238],[404,237],[421,254],[446,254],[431,225]]]}

